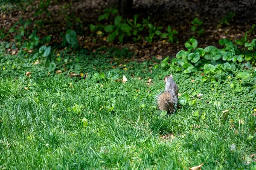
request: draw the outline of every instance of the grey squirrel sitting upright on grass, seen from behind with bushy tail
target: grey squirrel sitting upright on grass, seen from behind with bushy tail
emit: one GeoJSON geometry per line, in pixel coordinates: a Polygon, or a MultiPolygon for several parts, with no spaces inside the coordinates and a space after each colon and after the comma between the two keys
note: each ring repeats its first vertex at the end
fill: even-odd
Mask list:
{"type": "Polygon", "coordinates": [[[172,74],[166,76],[163,81],[165,82],[165,91],[157,96],[158,108],[167,111],[167,114],[175,113],[178,105],[179,88],[172,78],[172,74]]]}

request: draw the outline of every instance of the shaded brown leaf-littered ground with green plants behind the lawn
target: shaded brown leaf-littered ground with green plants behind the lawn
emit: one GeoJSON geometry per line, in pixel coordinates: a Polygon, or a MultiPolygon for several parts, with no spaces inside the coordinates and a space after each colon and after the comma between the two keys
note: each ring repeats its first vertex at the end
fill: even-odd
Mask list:
{"type": "Polygon", "coordinates": [[[45,44],[63,49],[71,43],[72,46],[76,44],[90,52],[103,45],[125,47],[134,51],[137,57],[150,58],[154,55],[174,56],[193,36],[203,47],[218,46],[222,38],[240,39],[249,30],[249,40],[255,38],[254,1],[136,0],[131,14],[123,17],[131,24],[128,21],[121,22],[128,23],[131,27],[129,29],[114,24],[116,16],[111,17],[109,11],[106,11],[108,0],[14,2],[0,2],[0,40],[16,42],[9,48],[10,54],[17,54],[20,44],[26,44],[26,48],[33,51],[45,44]],[[135,25],[136,14],[138,17],[135,25]],[[146,22],[143,23],[144,20],[146,22]],[[112,26],[105,30],[100,28],[101,32],[97,34],[97,31],[90,28],[91,24],[112,26]],[[123,29],[112,30],[120,27],[123,29]],[[67,43],[66,38],[70,35],[76,35],[77,39],[67,43]],[[108,42],[114,37],[115,40],[108,42]]]}

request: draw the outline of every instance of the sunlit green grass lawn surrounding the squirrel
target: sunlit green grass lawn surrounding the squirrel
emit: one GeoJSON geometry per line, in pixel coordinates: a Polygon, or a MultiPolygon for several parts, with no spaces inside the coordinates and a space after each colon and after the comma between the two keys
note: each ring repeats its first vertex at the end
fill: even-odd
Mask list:
{"type": "Polygon", "coordinates": [[[211,77],[202,82],[201,73],[175,73],[180,93],[188,93],[190,101],[204,95],[163,116],[155,96],[171,71],[157,67],[155,59],[113,59],[122,53],[98,51],[76,58],[63,53],[69,61],[65,65],[53,57],[56,70],[63,72],[49,75],[45,59],[33,65],[37,58],[32,54],[2,55],[0,169],[188,169],[201,163],[202,169],[256,169],[252,76],[240,82],[243,91],[235,92],[230,83],[237,78],[229,73],[218,82],[211,77]],[[87,78],[71,78],[71,71],[87,78]],[[116,81],[122,75],[127,82],[116,81]],[[221,111],[227,109],[224,119],[221,111]]]}

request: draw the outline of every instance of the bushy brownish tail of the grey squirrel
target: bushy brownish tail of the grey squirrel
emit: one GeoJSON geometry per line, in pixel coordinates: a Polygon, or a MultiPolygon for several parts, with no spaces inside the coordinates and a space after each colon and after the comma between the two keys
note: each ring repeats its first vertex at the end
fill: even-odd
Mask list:
{"type": "Polygon", "coordinates": [[[157,104],[159,110],[167,111],[167,113],[175,113],[178,97],[172,96],[169,92],[163,92],[157,97],[157,104]]]}

